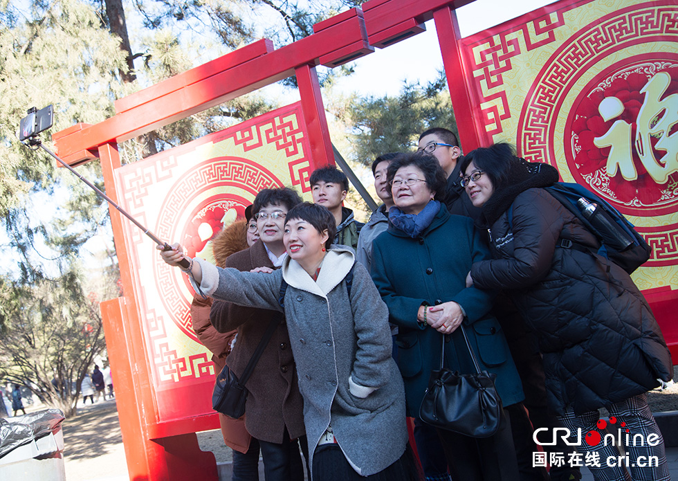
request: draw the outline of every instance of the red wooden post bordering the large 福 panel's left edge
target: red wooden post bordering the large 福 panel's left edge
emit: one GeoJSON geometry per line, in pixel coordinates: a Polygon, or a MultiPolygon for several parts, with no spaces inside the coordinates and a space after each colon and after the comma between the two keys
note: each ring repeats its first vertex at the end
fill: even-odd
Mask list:
{"type": "Polygon", "coordinates": [[[457,12],[450,7],[440,8],[433,12],[436,24],[440,51],[443,55],[443,66],[448,79],[448,89],[452,98],[452,107],[455,109],[457,129],[459,129],[459,142],[464,152],[481,147],[478,132],[473,122],[473,99],[470,98],[470,89],[464,81],[464,66],[459,48],[459,22],[457,12]]]}

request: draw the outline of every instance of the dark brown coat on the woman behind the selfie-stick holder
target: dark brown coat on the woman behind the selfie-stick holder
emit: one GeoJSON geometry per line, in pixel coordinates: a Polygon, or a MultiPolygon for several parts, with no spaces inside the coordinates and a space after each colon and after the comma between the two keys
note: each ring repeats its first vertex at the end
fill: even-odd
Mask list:
{"type": "MultiPolygon", "coordinates": [[[[226,260],[227,267],[250,271],[255,267],[271,267],[263,242],[235,253],[226,260]]],[[[237,341],[226,363],[241,376],[256,350],[275,312],[240,307],[215,300],[210,320],[219,332],[238,329],[237,341]]],[[[255,370],[246,383],[249,391],[246,404],[246,426],[253,437],[266,442],[282,443],[287,428],[291,439],[303,436],[303,401],[297,383],[297,370],[286,324],[280,323],[266,346],[255,370]]]]}

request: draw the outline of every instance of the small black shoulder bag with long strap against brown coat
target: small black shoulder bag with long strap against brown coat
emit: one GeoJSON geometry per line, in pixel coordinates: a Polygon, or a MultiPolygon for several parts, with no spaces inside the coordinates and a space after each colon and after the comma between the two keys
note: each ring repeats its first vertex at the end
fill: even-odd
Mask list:
{"type": "Polygon", "coordinates": [[[245,414],[245,402],[247,401],[248,394],[245,384],[250,379],[250,374],[252,374],[255,365],[259,362],[259,358],[262,356],[264,349],[266,349],[268,341],[271,341],[271,336],[273,336],[273,332],[275,332],[275,328],[281,319],[282,313],[276,314],[271,319],[271,323],[268,325],[264,337],[259,341],[259,345],[257,345],[257,349],[252,354],[250,362],[247,363],[241,379],[238,379],[238,376],[228,368],[228,365],[223,366],[223,369],[217,376],[217,382],[214,383],[214,391],[212,392],[212,408],[215,411],[235,419],[245,414]]]}

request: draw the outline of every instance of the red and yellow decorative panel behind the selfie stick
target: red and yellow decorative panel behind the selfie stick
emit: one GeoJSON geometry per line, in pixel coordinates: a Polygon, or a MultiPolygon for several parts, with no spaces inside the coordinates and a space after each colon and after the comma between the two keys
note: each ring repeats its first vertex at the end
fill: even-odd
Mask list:
{"type": "MultiPolygon", "coordinates": [[[[309,192],[314,167],[304,125],[297,103],[120,167],[120,205],[161,239],[212,260],[210,239],[244,217],[259,190],[287,185],[309,192]]],[[[191,329],[193,292],[185,275],[161,262],[153,242],[127,221],[125,239],[158,408],[176,410],[172,390],[214,382],[211,355],[191,329]]]]}

